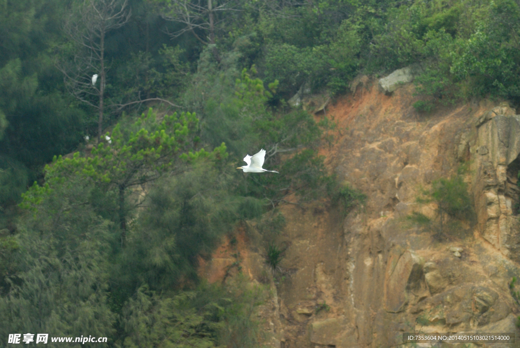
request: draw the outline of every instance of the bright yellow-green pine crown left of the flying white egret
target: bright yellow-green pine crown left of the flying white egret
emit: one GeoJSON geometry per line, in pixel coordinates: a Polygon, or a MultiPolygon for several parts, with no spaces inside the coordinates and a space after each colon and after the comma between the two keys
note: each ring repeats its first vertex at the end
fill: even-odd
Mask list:
{"type": "MultiPolygon", "coordinates": [[[[193,133],[197,131],[198,119],[193,113],[164,115],[157,121],[157,113],[150,108],[148,113],[129,127],[116,125],[112,133],[90,154],[75,152],[72,158],[55,157],[45,166],[46,183],[36,183],[23,194],[22,208],[36,209],[42,197],[55,185],[60,185],[68,176],[79,176],[98,185],[108,185],[119,190],[120,220],[126,220],[124,200],[129,188],[154,181],[179,166],[181,160],[196,161],[209,157],[203,149],[188,151],[194,146],[193,133]]],[[[225,145],[216,148],[212,155],[225,158],[225,145]]]]}

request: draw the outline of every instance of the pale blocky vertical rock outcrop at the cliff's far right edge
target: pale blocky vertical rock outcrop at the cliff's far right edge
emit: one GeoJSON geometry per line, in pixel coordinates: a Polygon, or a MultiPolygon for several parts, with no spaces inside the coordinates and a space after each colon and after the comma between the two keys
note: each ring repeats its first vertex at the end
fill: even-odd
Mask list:
{"type": "Polygon", "coordinates": [[[474,190],[480,235],[494,248],[520,261],[516,185],[520,154],[520,116],[496,107],[476,121],[474,190]]]}

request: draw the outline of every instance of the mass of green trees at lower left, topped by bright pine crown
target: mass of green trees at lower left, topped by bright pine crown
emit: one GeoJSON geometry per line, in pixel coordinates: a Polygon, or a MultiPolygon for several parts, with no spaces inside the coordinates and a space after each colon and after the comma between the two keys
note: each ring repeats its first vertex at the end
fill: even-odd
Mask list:
{"type": "Polygon", "coordinates": [[[0,237],[2,335],[87,330],[109,345],[256,344],[263,289],[240,277],[196,288],[199,257],[232,232],[250,199],[232,182],[224,145],[193,150],[197,131],[194,114],[158,122],[150,109],[89,154],[46,166],[45,184],[22,195],[17,233],[0,237]]]}

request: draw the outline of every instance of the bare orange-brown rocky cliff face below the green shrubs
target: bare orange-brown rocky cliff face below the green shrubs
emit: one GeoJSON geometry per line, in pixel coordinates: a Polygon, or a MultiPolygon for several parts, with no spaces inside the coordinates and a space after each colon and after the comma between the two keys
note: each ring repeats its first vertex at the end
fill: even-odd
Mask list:
{"type": "MultiPolygon", "coordinates": [[[[275,295],[262,308],[266,343],[393,347],[404,332],[520,338],[509,288],[520,276],[520,116],[484,102],[421,115],[412,107],[413,85],[387,95],[377,81],[358,80],[354,95],[326,109],[338,141],[323,154],[367,201],[346,217],[320,202],[283,208],[288,224],[280,242],[290,248],[282,266],[291,272],[272,284],[275,295]],[[410,223],[413,212],[437,221],[436,204],[417,197],[463,164],[475,221],[440,237],[410,223]]],[[[244,272],[259,279],[262,257],[253,244],[244,248],[257,261],[244,261],[244,272]]]]}

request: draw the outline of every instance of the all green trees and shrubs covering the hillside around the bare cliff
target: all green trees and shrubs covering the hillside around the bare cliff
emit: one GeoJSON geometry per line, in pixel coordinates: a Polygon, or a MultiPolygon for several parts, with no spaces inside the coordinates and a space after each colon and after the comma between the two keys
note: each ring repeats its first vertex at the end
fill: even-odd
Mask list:
{"type": "Polygon", "coordinates": [[[257,346],[268,290],[200,261],[244,221],[279,248],[280,204],[363,197],[287,100],[417,64],[421,110],[517,105],[519,45],[514,0],[0,0],[0,338],[257,346]],[[280,174],[235,169],[261,148],[280,174]]]}

